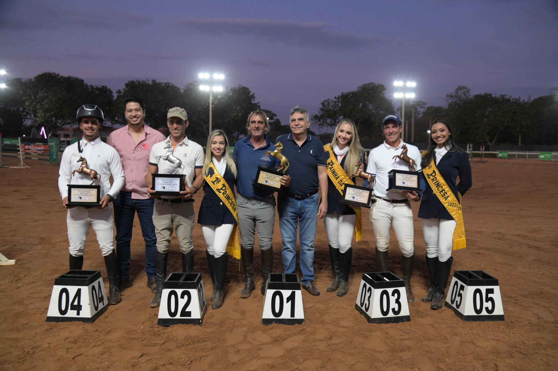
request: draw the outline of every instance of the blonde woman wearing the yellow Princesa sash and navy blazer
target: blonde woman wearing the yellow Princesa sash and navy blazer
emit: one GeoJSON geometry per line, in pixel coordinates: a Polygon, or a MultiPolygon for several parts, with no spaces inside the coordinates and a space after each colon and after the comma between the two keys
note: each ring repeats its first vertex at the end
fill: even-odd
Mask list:
{"type": "Polygon", "coordinates": [[[209,134],[202,174],[205,195],[201,200],[198,223],[207,244],[205,256],[213,281],[211,309],[218,309],[223,305],[228,254],[240,258],[234,197],[237,166],[229,155],[229,141],[222,130],[209,134]]]}

